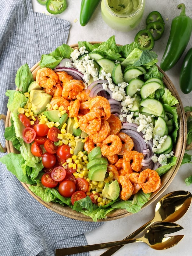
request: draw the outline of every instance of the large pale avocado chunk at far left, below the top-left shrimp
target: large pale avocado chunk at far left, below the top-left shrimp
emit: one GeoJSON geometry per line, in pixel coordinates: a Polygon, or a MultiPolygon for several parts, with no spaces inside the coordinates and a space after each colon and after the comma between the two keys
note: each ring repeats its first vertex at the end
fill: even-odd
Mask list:
{"type": "Polygon", "coordinates": [[[52,96],[43,90],[32,89],[30,91],[30,98],[32,104],[31,111],[38,115],[47,109],[47,104],[50,103],[52,96]]]}

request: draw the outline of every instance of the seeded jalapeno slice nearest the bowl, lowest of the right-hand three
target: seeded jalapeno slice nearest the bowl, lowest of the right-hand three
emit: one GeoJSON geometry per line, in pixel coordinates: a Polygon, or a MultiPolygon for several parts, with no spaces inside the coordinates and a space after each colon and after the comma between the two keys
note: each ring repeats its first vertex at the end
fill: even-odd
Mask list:
{"type": "Polygon", "coordinates": [[[140,30],[135,38],[134,41],[138,44],[139,49],[141,50],[152,50],[155,44],[153,35],[147,29],[140,30]]]}

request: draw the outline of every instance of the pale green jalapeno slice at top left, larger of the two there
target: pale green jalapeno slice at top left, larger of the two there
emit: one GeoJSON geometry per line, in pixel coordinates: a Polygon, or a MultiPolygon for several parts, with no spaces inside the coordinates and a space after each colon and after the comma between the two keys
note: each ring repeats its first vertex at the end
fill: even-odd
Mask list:
{"type": "Polygon", "coordinates": [[[67,8],[66,0],[47,0],[46,9],[51,14],[60,14],[67,8]]]}

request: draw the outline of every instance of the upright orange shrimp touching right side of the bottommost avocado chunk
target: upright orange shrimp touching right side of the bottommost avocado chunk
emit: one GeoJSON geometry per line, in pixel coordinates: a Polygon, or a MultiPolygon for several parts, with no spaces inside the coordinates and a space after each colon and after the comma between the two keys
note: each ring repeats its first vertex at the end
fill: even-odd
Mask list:
{"type": "Polygon", "coordinates": [[[122,200],[128,200],[132,194],[133,194],[133,185],[130,182],[130,179],[128,176],[120,175],[118,177],[118,182],[121,186],[121,191],[119,194],[120,199],[122,200]]]}

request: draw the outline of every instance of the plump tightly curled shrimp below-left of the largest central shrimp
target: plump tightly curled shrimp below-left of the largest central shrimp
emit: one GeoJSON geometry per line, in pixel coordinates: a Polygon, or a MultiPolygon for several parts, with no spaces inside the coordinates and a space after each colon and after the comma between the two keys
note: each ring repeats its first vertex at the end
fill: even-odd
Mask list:
{"type": "Polygon", "coordinates": [[[101,117],[96,112],[89,112],[79,119],[80,129],[88,135],[98,132],[101,127],[101,117]]]}

